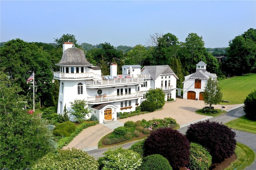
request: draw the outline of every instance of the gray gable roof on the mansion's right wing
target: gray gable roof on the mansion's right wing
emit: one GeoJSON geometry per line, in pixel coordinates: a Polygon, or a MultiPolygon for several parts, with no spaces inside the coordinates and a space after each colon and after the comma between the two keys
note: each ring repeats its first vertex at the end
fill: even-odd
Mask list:
{"type": "Polygon", "coordinates": [[[146,69],[153,80],[156,80],[162,74],[173,74],[177,79],[178,76],[172,71],[172,68],[168,65],[156,65],[156,66],[144,66],[143,69],[146,69]]]}

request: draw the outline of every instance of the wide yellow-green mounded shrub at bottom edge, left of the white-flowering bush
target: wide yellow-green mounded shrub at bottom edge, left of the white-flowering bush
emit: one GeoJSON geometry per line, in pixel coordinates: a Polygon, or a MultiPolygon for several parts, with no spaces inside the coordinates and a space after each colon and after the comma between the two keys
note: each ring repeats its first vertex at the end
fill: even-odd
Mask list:
{"type": "Polygon", "coordinates": [[[32,170],[98,170],[99,164],[93,156],[75,148],[57,150],[44,156],[34,165],[32,170]]]}

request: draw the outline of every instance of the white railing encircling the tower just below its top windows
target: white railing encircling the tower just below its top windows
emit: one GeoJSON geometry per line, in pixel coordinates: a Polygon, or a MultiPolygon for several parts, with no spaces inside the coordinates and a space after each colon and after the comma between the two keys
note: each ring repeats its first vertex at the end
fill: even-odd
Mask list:
{"type": "Polygon", "coordinates": [[[53,73],[54,77],[57,78],[95,78],[101,79],[100,75],[94,74],[93,72],[83,72],[83,73],[63,73],[60,71],[53,73]]]}

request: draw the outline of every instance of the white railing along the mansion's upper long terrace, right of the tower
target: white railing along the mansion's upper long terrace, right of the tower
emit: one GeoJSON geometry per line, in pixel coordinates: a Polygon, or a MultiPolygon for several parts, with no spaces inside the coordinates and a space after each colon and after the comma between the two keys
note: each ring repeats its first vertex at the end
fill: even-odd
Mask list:
{"type": "Polygon", "coordinates": [[[107,80],[87,80],[86,85],[97,86],[106,84],[120,84],[120,83],[132,83],[132,82],[143,82],[143,77],[136,78],[117,78],[117,79],[107,79],[107,80]]]}

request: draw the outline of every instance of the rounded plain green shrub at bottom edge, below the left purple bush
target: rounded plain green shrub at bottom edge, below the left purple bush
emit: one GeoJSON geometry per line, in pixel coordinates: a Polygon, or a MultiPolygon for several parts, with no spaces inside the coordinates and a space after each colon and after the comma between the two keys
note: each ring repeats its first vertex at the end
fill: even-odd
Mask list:
{"type": "Polygon", "coordinates": [[[140,170],[172,170],[172,167],[164,156],[152,154],[143,158],[140,170]]]}

